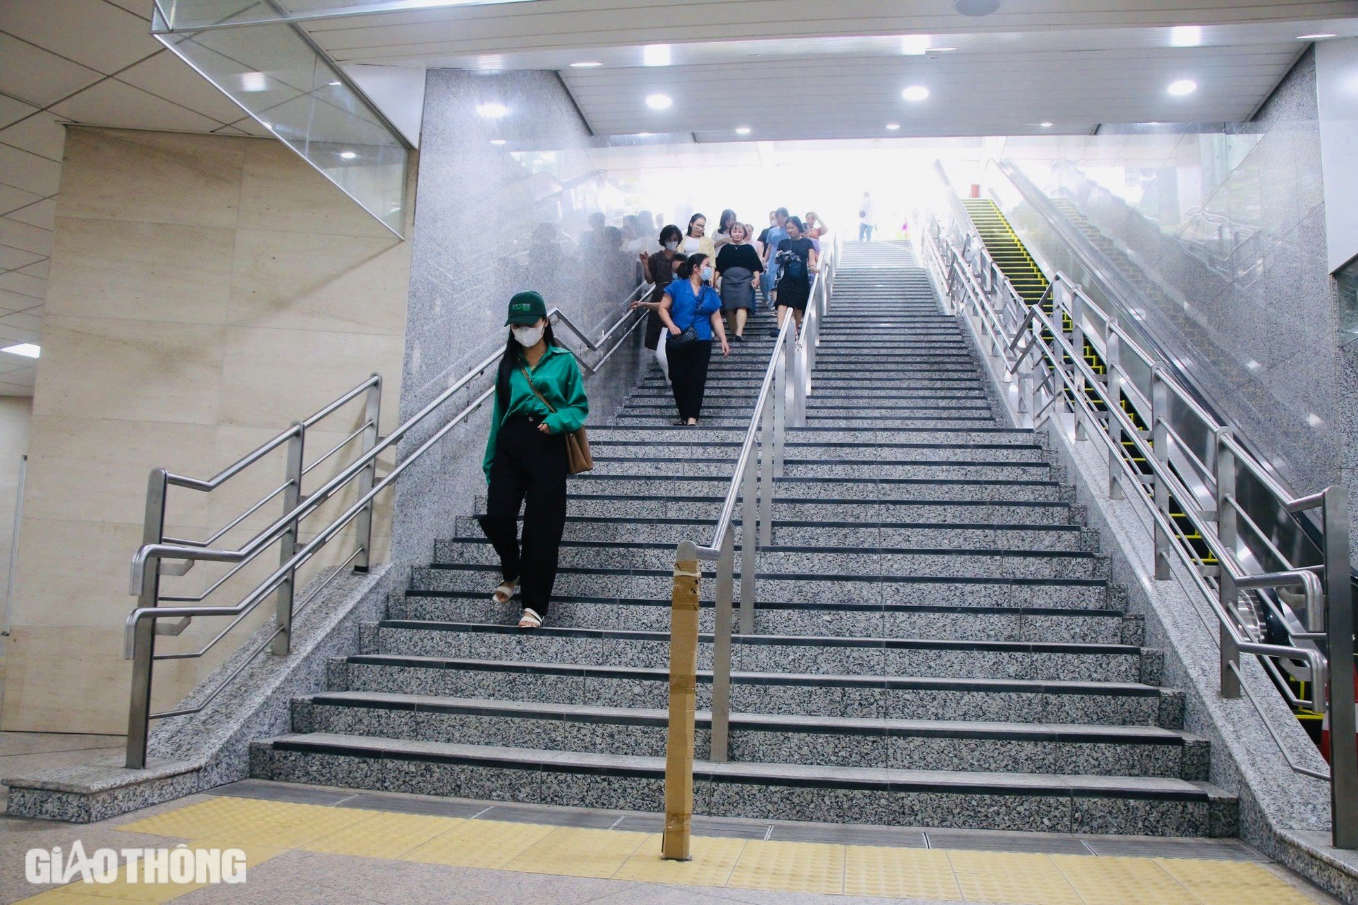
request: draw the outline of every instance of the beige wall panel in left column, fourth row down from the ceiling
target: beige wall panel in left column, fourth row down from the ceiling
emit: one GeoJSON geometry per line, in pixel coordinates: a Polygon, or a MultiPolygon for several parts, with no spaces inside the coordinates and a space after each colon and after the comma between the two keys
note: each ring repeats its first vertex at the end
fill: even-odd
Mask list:
{"type": "MultiPolygon", "coordinates": [[[[152,468],[196,472],[212,456],[210,425],[61,415],[37,415],[33,422],[29,518],[140,524],[152,468]]],[[[209,524],[202,494],[181,490],[172,499],[170,521],[209,524]]]]}

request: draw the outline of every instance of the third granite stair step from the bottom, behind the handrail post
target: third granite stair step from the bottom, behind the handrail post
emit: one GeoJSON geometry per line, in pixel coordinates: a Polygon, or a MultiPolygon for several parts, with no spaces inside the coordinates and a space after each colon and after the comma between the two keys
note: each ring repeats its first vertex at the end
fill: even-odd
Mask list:
{"type": "MultiPolygon", "coordinates": [[[[368,691],[660,707],[668,669],[409,654],[331,661],[331,691],[368,691]]],[[[699,670],[697,707],[712,707],[712,673],[699,670]]],[[[1028,678],[731,673],[736,712],[889,719],[953,719],[1183,727],[1183,692],[1141,682],[1028,678]]]]}

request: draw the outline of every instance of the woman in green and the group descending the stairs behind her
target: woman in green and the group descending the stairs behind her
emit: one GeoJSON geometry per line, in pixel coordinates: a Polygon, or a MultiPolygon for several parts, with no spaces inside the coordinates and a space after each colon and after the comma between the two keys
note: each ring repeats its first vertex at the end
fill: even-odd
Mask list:
{"type": "MultiPolygon", "coordinates": [[[[653,289],[633,308],[649,311],[645,345],[655,350],[674,392],[675,426],[698,425],[713,343],[729,355],[731,342],[744,342],[756,296],[778,311],[771,335],[778,335],[790,313],[800,345],[826,232],[815,212],[803,220],[778,208],[769,212],[769,227],[754,236],[750,224],[727,209],[713,235],[708,235],[708,218],[695,213],[686,231],[674,224],[660,231],[659,251],[640,252],[653,289]]],[[[589,400],[574,357],[555,343],[539,293],[515,294],[505,326],[509,336],[496,374],[482,460],[486,513],[479,521],[500,556],[502,581],[492,598],[508,604],[519,593],[519,627],[538,628],[547,615],[566,524],[566,437],[584,425],[589,400]]]]}

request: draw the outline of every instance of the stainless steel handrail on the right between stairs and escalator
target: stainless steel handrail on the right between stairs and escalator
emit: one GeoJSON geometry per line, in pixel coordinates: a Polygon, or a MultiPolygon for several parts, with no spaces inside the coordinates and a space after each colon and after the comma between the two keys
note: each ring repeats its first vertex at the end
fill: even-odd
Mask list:
{"type": "MultiPolygon", "coordinates": [[[[1029,307],[1023,301],[985,247],[971,247],[970,232],[964,224],[945,229],[936,216],[930,217],[925,259],[947,304],[964,315],[980,342],[987,366],[1005,389],[1005,403],[1020,423],[1033,427],[1058,418],[1065,408],[1077,441],[1097,437],[1103,442],[1108,456],[1108,497],[1124,498],[1124,488],[1130,487],[1131,498],[1139,501],[1150,516],[1154,578],[1172,578],[1171,558],[1177,558],[1183,566],[1180,581],[1184,575],[1188,581],[1186,590],[1200,594],[1211,609],[1213,619],[1210,623],[1203,620],[1203,625],[1217,635],[1221,647],[1221,695],[1240,697],[1244,691],[1289,767],[1298,773],[1329,780],[1334,844],[1358,848],[1354,624],[1343,487],[1327,487],[1304,497],[1291,494],[1228,427],[1196,403],[1188,388],[1142,350],[1118,320],[1103,312],[1066,274],[1058,271],[1051,280],[1052,313],[1047,315],[1042,305],[1029,307]],[[1070,326],[1066,327],[1066,323],[1070,326]],[[1096,373],[1085,361],[1086,327],[1101,334],[1104,374],[1096,373]],[[1128,392],[1128,366],[1150,373],[1149,399],[1128,392]],[[1133,404],[1146,427],[1134,423],[1123,408],[1124,400],[1133,404]],[[1207,475],[1210,499],[1200,499],[1183,478],[1183,468],[1206,471],[1207,465],[1203,456],[1186,455],[1191,452],[1188,444],[1169,423],[1173,406],[1191,410],[1209,429],[1213,453],[1206,457],[1213,463],[1213,474],[1207,475]],[[1130,444],[1130,449],[1124,444],[1130,444]],[[1133,459],[1143,460],[1148,472],[1134,467],[1133,459]],[[1241,506],[1236,494],[1240,469],[1249,472],[1256,484],[1287,513],[1320,509],[1324,531],[1321,566],[1291,563],[1277,548],[1272,552],[1283,569],[1270,571],[1253,564],[1255,559],[1238,535],[1241,506]],[[1181,512],[1172,510],[1171,499],[1181,512]],[[1175,525],[1175,517],[1188,520],[1206,547],[1206,555],[1181,539],[1183,532],[1175,525]],[[1241,619],[1241,592],[1278,588],[1301,589],[1306,601],[1306,628],[1316,634],[1320,625],[1325,628],[1324,653],[1309,639],[1297,639],[1294,644],[1266,643],[1241,619]],[[1316,712],[1328,714],[1332,744],[1328,776],[1293,760],[1259,703],[1240,681],[1243,654],[1259,657],[1275,681],[1281,678],[1279,661],[1308,665],[1309,701],[1298,701],[1286,682],[1279,685],[1290,703],[1306,703],[1316,712]]],[[[1247,521],[1253,525],[1252,520],[1247,521]]],[[[1200,612],[1198,616],[1202,619],[1200,612]]]]}

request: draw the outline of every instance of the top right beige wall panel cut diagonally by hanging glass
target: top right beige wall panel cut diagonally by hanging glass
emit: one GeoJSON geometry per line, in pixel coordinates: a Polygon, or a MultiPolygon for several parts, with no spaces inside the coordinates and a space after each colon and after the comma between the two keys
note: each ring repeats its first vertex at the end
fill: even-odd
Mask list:
{"type": "Polygon", "coordinates": [[[392,239],[340,189],[276,141],[250,142],[240,186],[242,229],[392,239]]]}

